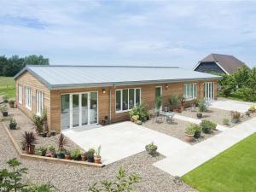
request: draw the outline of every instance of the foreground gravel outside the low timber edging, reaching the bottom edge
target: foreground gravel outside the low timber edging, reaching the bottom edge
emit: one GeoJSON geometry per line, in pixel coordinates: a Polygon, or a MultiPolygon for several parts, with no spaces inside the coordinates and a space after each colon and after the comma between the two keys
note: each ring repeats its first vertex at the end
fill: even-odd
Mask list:
{"type": "MultiPolygon", "coordinates": [[[[0,124],[0,167],[11,158],[18,158],[12,144],[0,124]],[[4,147],[3,147],[4,146],[4,147]]],[[[21,160],[22,165],[27,167],[27,179],[34,183],[51,182],[60,191],[87,191],[88,184],[102,179],[113,179],[119,166],[124,166],[129,173],[137,172],[143,177],[137,184],[137,191],[141,192],[195,192],[185,183],[175,183],[173,177],[166,172],[160,171],[152,164],[162,160],[163,156],[151,157],[142,152],[124,160],[119,160],[103,168],[68,166],[51,162],[36,160],[21,160]]]]}

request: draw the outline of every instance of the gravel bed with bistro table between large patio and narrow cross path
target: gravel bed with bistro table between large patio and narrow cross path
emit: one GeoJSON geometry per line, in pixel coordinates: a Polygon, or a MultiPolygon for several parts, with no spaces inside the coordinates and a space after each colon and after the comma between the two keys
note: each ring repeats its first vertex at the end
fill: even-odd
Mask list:
{"type": "MultiPolygon", "coordinates": [[[[191,123],[189,123],[188,121],[183,121],[178,119],[174,119],[172,124],[166,124],[165,121],[163,123],[154,123],[154,119],[150,119],[147,122],[143,123],[143,126],[147,127],[148,129],[151,129],[154,131],[160,131],[162,133],[165,133],[168,136],[176,137],[182,140],[183,142],[186,142],[184,140],[184,132],[186,131],[186,127],[188,125],[191,125],[191,123]]],[[[209,137],[215,136],[220,132],[221,131],[212,131],[211,134],[204,134],[203,132],[201,132],[201,137],[198,139],[195,139],[194,142],[189,144],[194,145],[196,143],[200,143],[209,137]]]]}

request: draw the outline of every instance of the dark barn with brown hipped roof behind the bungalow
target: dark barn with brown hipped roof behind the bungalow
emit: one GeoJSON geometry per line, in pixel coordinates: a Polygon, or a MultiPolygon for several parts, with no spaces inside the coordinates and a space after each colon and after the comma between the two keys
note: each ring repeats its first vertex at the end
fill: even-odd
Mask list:
{"type": "Polygon", "coordinates": [[[210,54],[195,65],[194,71],[231,74],[243,66],[246,64],[233,55],[210,54]]]}

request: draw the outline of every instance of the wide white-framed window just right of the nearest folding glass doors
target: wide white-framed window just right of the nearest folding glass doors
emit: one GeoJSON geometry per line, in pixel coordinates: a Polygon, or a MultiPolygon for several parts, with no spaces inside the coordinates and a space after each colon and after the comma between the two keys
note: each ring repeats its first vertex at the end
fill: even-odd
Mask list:
{"type": "Polygon", "coordinates": [[[123,89],[116,90],[116,112],[125,112],[131,110],[135,105],[141,102],[141,89],[123,89]]]}

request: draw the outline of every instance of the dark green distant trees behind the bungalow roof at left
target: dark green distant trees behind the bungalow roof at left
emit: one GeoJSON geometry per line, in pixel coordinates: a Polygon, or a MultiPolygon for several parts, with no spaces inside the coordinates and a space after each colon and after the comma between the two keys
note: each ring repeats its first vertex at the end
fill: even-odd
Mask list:
{"type": "Polygon", "coordinates": [[[44,58],[43,55],[28,55],[25,57],[12,55],[9,58],[0,55],[0,76],[13,77],[26,65],[49,65],[49,59],[44,58]]]}

